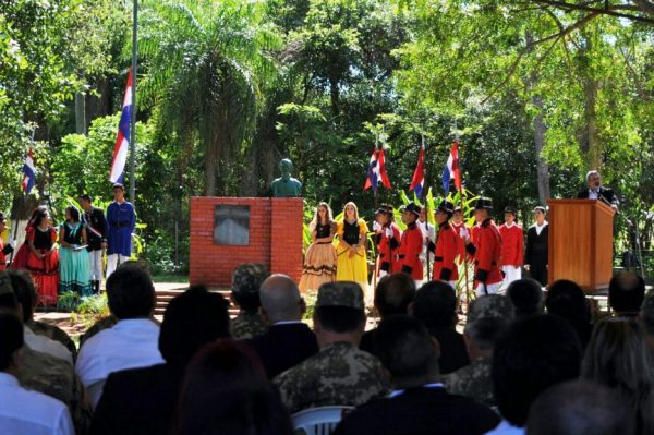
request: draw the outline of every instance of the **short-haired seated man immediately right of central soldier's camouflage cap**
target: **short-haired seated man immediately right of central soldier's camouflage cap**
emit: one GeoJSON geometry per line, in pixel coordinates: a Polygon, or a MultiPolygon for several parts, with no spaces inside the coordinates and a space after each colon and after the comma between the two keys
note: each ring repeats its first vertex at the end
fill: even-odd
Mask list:
{"type": "MultiPolygon", "coordinates": [[[[415,281],[407,274],[386,275],[375,288],[375,309],[382,319],[393,314],[407,314],[409,305],[415,298],[415,281]]],[[[361,337],[359,348],[372,354],[375,354],[373,349],[373,336],[376,328],[366,330],[361,337]]]]}

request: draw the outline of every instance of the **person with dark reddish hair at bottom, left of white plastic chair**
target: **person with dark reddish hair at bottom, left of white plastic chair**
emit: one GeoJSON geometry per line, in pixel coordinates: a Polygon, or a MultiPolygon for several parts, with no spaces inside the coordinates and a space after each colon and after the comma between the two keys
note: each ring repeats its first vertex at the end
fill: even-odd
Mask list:
{"type": "Polygon", "coordinates": [[[195,355],[178,409],[178,435],[293,434],[289,414],[254,351],[228,339],[195,355]]]}

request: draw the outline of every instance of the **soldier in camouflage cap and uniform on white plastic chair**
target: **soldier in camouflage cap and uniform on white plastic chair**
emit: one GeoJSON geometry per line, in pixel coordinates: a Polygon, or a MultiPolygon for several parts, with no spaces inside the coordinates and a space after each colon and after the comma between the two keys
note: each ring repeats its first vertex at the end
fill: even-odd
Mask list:
{"type": "Polygon", "coordinates": [[[322,285],[313,322],[320,351],[274,379],[289,411],[358,406],[387,391],[382,363],[359,349],[365,312],[356,282],[322,285]]]}

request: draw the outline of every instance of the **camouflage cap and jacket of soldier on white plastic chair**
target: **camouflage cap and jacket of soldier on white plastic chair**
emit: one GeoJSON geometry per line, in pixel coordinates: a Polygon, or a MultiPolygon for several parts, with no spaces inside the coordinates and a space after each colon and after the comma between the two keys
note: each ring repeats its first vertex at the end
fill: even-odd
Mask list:
{"type": "MultiPolygon", "coordinates": [[[[347,306],[363,312],[355,282],[329,282],[318,289],[316,307],[347,306]]],[[[290,412],[324,406],[360,406],[388,391],[377,358],[353,342],[337,341],[274,379],[290,412]]]]}

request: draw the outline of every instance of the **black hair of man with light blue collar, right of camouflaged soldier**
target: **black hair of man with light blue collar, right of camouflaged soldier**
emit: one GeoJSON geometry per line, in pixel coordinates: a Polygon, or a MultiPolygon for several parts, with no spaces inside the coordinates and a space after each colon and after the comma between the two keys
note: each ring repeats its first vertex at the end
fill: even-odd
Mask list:
{"type": "Polygon", "coordinates": [[[373,339],[377,358],[396,380],[420,378],[438,366],[432,336],[415,317],[397,314],[382,319],[373,339]]]}

